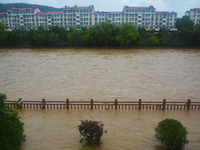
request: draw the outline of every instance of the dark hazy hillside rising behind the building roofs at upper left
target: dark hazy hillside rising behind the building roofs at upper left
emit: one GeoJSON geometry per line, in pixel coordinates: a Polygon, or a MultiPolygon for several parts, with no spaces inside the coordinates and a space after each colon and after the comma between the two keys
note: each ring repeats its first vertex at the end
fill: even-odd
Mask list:
{"type": "MultiPolygon", "coordinates": [[[[62,8],[55,8],[45,5],[37,5],[37,4],[27,4],[27,3],[0,3],[0,12],[6,12],[8,9],[12,8],[39,8],[40,11],[61,11],[62,8]]],[[[63,6],[64,8],[64,6],[63,6]]]]}

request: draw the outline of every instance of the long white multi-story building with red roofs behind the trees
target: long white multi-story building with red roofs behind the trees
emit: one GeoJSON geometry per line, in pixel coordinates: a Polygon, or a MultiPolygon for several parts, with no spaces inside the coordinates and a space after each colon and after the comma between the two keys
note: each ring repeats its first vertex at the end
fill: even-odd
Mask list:
{"type": "Polygon", "coordinates": [[[62,11],[41,12],[34,8],[13,8],[0,13],[0,22],[10,29],[27,29],[43,26],[91,27],[100,22],[110,20],[113,24],[121,25],[131,22],[138,27],[160,30],[175,29],[177,13],[156,11],[153,6],[129,7],[124,6],[119,12],[95,11],[94,6],[65,7],[62,11]]]}

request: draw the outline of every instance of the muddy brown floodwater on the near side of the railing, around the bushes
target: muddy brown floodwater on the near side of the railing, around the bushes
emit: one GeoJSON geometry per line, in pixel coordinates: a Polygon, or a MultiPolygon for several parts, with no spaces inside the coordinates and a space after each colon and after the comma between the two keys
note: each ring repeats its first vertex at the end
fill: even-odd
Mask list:
{"type": "Polygon", "coordinates": [[[186,110],[20,110],[25,124],[26,141],[22,150],[164,150],[156,141],[154,128],[165,118],[174,118],[187,128],[189,145],[185,150],[200,148],[199,111],[186,110]],[[104,123],[108,131],[100,147],[79,143],[80,120],[104,123]]]}

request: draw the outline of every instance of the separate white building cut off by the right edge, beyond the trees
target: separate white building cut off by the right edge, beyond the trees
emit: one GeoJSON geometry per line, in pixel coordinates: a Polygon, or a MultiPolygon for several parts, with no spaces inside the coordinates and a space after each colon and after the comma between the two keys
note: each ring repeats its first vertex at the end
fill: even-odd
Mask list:
{"type": "Polygon", "coordinates": [[[186,16],[194,22],[194,24],[200,24],[200,8],[194,8],[191,10],[186,11],[186,16]]]}

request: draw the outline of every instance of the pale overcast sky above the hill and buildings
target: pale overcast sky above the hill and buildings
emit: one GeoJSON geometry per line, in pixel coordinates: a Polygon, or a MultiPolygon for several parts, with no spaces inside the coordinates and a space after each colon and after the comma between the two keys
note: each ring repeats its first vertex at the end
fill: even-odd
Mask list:
{"type": "Polygon", "coordinates": [[[200,8],[200,0],[0,0],[0,3],[30,3],[57,8],[94,5],[96,11],[122,11],[123,6],[150,6],[156,11],[175,11],[182,17],[186,10],[200,8]]]}

